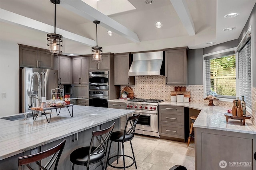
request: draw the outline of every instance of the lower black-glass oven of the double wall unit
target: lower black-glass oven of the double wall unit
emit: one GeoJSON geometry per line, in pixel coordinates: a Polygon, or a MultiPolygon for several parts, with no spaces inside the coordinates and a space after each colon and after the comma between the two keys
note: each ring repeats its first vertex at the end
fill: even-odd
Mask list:
{"type": "Polygon", "coordinates": [[[89,91],[89,106],[108,107],[108,91],[89,91]]]}

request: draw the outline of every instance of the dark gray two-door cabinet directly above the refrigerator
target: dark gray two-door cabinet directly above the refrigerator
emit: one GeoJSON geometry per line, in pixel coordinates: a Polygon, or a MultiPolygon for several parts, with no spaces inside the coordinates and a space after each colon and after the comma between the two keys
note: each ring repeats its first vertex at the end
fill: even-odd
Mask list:
{"type": "Polygon", "coordinates": [[[46,49],[19,44],[20,67],[53,69],[53,58],[46,49]]]}

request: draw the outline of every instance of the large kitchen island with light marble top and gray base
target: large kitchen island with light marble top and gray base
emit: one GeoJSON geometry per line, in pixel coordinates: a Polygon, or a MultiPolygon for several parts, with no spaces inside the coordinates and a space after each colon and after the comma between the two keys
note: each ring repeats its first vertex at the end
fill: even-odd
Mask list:
{"type": "MultiPolygon", "coordinates": [[[[19,156],[31,154],[32,149],[38,149],[38,152],[49,149],[63,139],[67,141],[58,169],[70,169],[69,154],[78,147],[89,145],[92,131],[104,129],[114,121],[114,131],[118,131],[120,117],[133,112],[74,105],[73,117],[70,117],[67,109],[62,108],[60,115],[52,114],[50,123],[45,115],[35,121],[32,117],[15,121],[0,119],[0,169],[17,169],[19,156]]],[[[112,153],[117,150],[117,147],[113,148],[112,153]]],[[[97,164],[94,166],[98,167],[97,164]]]]}

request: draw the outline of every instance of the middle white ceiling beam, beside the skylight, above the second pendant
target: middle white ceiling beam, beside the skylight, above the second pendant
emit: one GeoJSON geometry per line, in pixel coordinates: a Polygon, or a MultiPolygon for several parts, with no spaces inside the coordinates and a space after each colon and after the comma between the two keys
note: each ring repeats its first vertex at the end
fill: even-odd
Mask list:
{"type": "Polygon", "coordinates": [[[61,0],[60,5],[63,8],[66,8],[67,10],[72,11],[75,14],[78,14],[79,16],[86,18],[87,20],[100,21],[100,25],[102,27],[105,27],[106,29],[115,32],[121,35],[122,37],[130,39],[135,43],[140,42],[138,35],[136,33],[131,31],[124,25],[121,25],[120,23],[116,22],[112,18],[102,14],[98,10],[92,8],[90,5],[86,4],[82,0],[61,0]]]}

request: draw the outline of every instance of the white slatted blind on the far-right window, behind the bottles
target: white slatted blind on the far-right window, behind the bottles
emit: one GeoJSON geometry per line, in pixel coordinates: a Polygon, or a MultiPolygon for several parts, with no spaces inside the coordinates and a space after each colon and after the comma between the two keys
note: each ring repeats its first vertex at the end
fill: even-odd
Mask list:
{"type": "Polygon", "coordinates": [[[251,39],[238,51],[239,96],[244,96],[246,108],[252,109],[251,39]]]}

